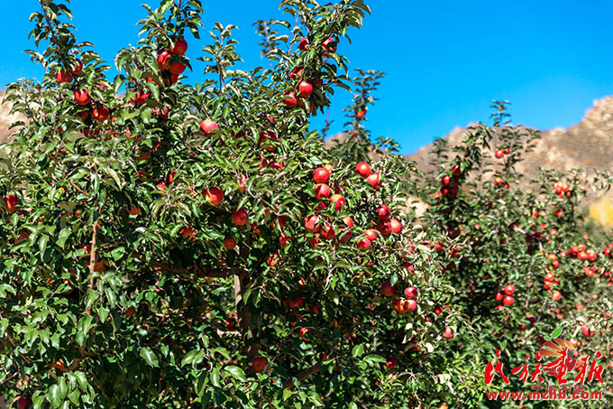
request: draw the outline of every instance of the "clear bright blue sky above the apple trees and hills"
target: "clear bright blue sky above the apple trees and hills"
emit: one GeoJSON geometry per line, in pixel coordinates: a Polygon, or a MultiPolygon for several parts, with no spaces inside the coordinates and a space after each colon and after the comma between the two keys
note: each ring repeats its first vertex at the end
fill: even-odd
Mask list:
{"type": "MultiPolygon", "coordinates": [[[[73,0],[78,39],[93,42],[105,60],[127,43],[136,43],[135,23],[145,15],[141,4],[154,0],[73,0]],[[109,27],[111,30],[109,30],[109,27]]],[[[4,2],[5,35],[0,38],[0,86],[18,79],[40,78],[23,53],[28,16],[38,2],[4,2]]],[[[581,120],[594,99],[613,95],[613,2],[591,0],[366,0],[372,15],[352,44],[339,51],[353,68],[382,70],[367,125],[373,136],[390,136],[402,153],[415,152],[454,126],[487,121],[489,101],[508,99],[515,123],[549,129],[581,120]]],[[[277,0],[204,0],[206,30],[202,40],[188,38],[191,79],[202,78],[195,61],[215,21],[239,26],[235,38],[248,67],[261,65],[252,23],[279,16],[277,0]]],[[[332,132],[342,129],[342,109],[351,96],[339,90],[330,117],[332,132]]],[[[321,122],[321,119],[320,119],[321,122]]],[[[317,123],[316,123],[317,125],[317,123]]],[[[318,128],[321,126],[317,126],[318,128]]]]}

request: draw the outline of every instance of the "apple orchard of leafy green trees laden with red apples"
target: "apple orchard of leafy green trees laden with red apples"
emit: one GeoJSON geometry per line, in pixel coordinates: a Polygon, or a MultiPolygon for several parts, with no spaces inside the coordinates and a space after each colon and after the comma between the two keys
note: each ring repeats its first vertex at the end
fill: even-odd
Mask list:
{"type": "Polygon", "coordinates": [[[8,86],[26,120],[0,145],[7,402],[527,407],[487,402],[529,386],[484,370],[499,349],[510,372],[556,329],[577,362],[599,357],[604,383],[585,387],[613,397],[613,245],[581,216],[608,174],[523,181],[539,135],[506,103],[463,144],[437,141],[435,172],[372,144],[383,74],[343,56],[361,0],[281,1],[288,21],[255,24],[269,68],[250,71],[234,69],[233,25],[190,46],[199,0],[145,7],[114,78],[66,1],[31,15],[45,75],[8,86]],[[309,121],[335,91],[351,105],[326,147],[309,121]]]}

